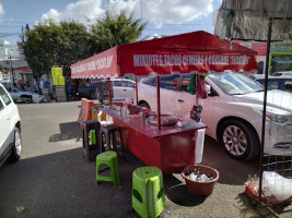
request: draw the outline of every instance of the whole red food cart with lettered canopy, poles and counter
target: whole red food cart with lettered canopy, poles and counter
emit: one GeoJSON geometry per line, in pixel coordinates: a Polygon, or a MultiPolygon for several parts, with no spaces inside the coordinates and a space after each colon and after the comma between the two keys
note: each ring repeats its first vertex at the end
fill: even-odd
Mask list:
{"type": "MultiPolygon", "coordinates": [[[[159,167],[164,174],[195,164],[194,134],[206,128],[190,121],[185,126],[163,125],[160,107],[160,76],[172,73],[208,74],[255,73],[256,51],[220,39],[206,32],[194,32],[160,39],[120,45],[71,66],[71,77],[103,77],[108,86],[114,77],[144,77],[156,74],[156,125],[150,120],[132,118],[113,107],[102,109],[122,129],[124,146],[148,166],[159,167]]],[[[110,96],[110,88],[109,96],[110,96]]],[[[136,85],[136,104],[139,95],[136,85]]],[[[194,102],[196,104],[196,102],[194,102]]]]}

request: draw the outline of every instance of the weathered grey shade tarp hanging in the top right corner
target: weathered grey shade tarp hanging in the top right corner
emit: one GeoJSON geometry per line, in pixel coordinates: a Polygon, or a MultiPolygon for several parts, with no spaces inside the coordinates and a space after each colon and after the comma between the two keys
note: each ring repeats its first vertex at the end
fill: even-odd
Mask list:
{"type": "Polygon", "coordinates": [[[267,40],[269,17],[273,21],[271,40],[292,39],[292,0],[223,0],[214,33],[221,38],[267,40]]]}

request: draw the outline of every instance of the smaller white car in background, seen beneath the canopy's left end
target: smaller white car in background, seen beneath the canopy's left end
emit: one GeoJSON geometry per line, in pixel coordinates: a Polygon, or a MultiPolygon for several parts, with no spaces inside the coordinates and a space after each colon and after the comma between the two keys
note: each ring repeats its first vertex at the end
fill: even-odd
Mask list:
{"type": "MultiPolygon", "coordinates": [[[[110,84],[113,87],[113,101],[125,100],[126,98],[130,98],[133,100],[135,98],[135,82],[127,78],[115,78],[110,80],[110,84]]],[[[96,98],[104,105],[108,105],[108,87],[105,81],[101,81],[97,84],[96,88],[96,98]]]]}

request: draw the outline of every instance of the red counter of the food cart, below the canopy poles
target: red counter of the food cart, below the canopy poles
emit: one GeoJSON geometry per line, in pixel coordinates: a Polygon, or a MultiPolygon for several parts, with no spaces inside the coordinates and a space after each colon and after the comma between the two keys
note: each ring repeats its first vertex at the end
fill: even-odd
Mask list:
{"type": "Polygon", "coordinates": [[[195,131],[207,125],[192,122],[187,126],[157,126],[147,120],[131,119],[122,112],[101,108],[110,116],[116,125],[121,126],[124,146],[145,165],[157,167],[163,174],[172,173],[195,164],[195,131]]]}

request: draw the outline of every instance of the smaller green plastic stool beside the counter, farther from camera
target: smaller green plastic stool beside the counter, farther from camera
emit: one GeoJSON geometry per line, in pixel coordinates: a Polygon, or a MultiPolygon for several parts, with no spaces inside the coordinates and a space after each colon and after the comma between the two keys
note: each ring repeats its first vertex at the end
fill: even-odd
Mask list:
{"type": "Polygon", "coordinates": [[[115,186],[120,184],[118,156],[116,152],[108,150],[96,156],[96,184],[98,181],[114,182],[115,186]],[[107,168],[98,169],[100,165],[106,165],[107,168]],[[110,170],[110,175],[101,175],[101,172],[110,170]]]}

